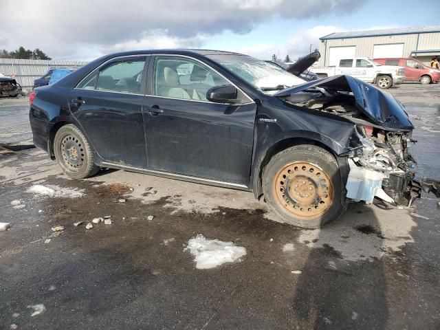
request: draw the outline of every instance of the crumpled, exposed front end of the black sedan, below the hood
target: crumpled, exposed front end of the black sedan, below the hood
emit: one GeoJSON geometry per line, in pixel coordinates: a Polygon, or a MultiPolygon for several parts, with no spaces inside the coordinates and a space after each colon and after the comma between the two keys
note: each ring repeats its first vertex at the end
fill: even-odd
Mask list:
{"type": "Polygon", "coordinates": [[[355,137],[362,145],[349,153],[347,197],[373,203],[379,197],[388,203],[410,206],[420,197],[421,183],[415,180],[415,159],[409,153],[411,132],[384,131],[373,126],[356,126],[355,137]]]}

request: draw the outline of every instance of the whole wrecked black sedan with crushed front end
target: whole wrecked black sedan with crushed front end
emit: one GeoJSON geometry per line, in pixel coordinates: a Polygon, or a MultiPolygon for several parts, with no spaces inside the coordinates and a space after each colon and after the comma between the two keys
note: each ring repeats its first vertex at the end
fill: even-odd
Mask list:
{"type": "Polygon", "coordinates": [[[348,201],[411,203],[404,107],[350,76],[304,80],[212,50],[111,54],[30,95],[34,144],[70,177],[100,168],[252,190],[318,228],[348,201]]]}

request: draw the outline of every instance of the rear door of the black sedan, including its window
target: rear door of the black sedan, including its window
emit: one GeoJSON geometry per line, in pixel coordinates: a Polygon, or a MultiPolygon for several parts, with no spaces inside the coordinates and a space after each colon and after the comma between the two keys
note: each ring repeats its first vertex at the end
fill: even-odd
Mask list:
{"type": "Polygon", "coordinates": [[[113,58],[72,89],[70,110],[104,162],[146,168],[146,58],[113,58]]]}

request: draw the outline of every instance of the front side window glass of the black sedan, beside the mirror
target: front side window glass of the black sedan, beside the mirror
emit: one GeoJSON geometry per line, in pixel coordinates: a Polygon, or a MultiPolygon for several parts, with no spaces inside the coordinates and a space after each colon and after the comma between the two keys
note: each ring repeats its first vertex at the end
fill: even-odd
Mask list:
{"type": "Polygon", "coordinates": [[[153,75],[153,95],[207,101],[206,92],[230,83],[212,69],[190,58],[157,56],[153,75]]]}

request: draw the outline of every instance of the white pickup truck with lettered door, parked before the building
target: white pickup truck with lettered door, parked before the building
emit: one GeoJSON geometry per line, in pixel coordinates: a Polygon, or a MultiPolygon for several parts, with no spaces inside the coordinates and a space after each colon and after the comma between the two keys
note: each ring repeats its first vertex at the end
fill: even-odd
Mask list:
{"type": "Polygon", "coordinates": [[[313,67],[313,70],[319,78],[347,74],[384,89],[402,83],[405,78],[403,67],[380,65],[366,57],[342,59],[336,67],[313,67]]]}

